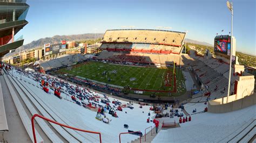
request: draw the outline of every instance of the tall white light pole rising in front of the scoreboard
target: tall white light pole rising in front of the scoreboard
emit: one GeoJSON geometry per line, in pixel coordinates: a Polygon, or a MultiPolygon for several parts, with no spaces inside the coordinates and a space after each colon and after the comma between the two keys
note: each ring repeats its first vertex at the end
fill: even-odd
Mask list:
{"type": "Polygon", "coordinates": [[[231,38],[230,38],[230,72],[229,72],[229,75],[228,75],[228,87],[227,87],[227,102],[228,102],[228,97],[230,96],[230,79],[231,79],[231,66],[232,66],[232,47],[233,47],[233,44],[232,44],[232,32],[233,32],[233,3],[231,2],[228,2],[227,1],[227,8],[228,10],[231,11],[231,38]]]}

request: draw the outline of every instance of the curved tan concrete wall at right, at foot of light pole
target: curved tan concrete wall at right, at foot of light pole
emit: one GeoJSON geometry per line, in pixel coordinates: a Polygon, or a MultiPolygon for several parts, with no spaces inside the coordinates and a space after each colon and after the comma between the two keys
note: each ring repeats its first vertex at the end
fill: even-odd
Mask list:
{"type": "Polygon", "coordinates": [[[227,97],[210,101],[208,104],[208,112],[225,113],[225,112],[231,112],[231,111],[247,108],[248,106],[256,104],[255,93],[249,96],[245,96],[244,98],[235,100],[236,96],[237,95],[230,96],[228,98],[228,103],[226,103],[227,97]]]}

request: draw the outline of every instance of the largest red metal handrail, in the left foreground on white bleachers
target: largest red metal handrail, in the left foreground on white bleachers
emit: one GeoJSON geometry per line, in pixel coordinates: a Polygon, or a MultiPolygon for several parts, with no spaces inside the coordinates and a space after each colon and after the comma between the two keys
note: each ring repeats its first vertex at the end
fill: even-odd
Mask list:
{"type": "Polygon", "coordinates": [[[64,124],[58,123],[57,121],[48,119],[48,118],[46,118],[46,117],[44,117],[44,116],[41,116],[41,115],[38,115],[38,114],[33,115],[32,118],[31,118],[32,131],[33,131],[33,138],[34,138],[34,142],[35,142],[35,143],[36,143],[36,132],[35,132],[35,126],[34,126],[34,119],[35,119],[36,117],[42,118],[42,119],[44,119],[44,120],[50,121],[51,123],[54,123],[54,124],[57,124],[57,125],[60,125],[60,126],[64,126],[64,127],[71,128],[71,129],[73,129],[73,130],[77,130],[77,131],[81,131],[81,132],[86,132],[86,133],[99,134],[99,142],[102,143],[102,135],[100,134],[100,132],[87,131],[87,130],[82,130],[82,129],[79,129],[79,128],[71,127],[71,126],[68,126],[68,125],[64,125],[64,124]]]}

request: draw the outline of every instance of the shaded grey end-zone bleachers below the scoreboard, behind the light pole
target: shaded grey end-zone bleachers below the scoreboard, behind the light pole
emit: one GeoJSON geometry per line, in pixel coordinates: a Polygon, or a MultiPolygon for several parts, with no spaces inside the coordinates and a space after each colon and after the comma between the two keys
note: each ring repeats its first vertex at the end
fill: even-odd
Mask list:
{"type": "MultiPolygon", "coordinates": [[[[202,56],[194,55],[192,55],[192,57],[197,59],[198,62],[193,63],[191,68],[193,68],[194,73],[199,77],[201,83],[204,84],[204,89],[194,94],[191,102],[205,102],[207,99],[211,100],[225,97],[227,95],[229,66],[216,59],[205,60],[202,56]]],[[[238,76],[231,75],[230,94],[234,91],[234,81],[237,78],[238,76]]]]}

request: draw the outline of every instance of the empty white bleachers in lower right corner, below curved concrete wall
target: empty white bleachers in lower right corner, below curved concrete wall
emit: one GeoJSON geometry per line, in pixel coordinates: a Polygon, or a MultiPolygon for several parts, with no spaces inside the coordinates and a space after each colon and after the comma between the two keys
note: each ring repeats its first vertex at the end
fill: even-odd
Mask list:
{"type": "MultiPolygon", "coordinates": [[[[185,110],[204,111],[204,103],[185,104],[185,110]]],[[[152,142],[249,142],[255,135],[255,105],[227,113],[196,113],[181,127],[161,130],[152,142]]],[[[254,140],[255,141],[255,140],[254,140]]],[[[253,142],[253,141],[252,141],[253,142]]]]}

